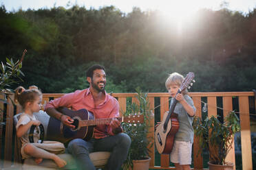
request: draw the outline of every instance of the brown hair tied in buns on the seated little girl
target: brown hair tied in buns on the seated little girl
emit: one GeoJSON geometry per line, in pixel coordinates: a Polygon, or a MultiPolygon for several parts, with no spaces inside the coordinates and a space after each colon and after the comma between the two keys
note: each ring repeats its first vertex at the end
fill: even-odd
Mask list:
{"type": "MultiPolygon", "coordinates": [[[[37,87],[36,87],[37,88],[37,87]]],[[[41,97],[42,93],[38,88],[25,90],[23,86],[17,87],[14,91],[14,101],[16,104],[20,104],[22,108],[25,108],[25,105],[30,101],[33,102],[36,97],[41,97]]]]}

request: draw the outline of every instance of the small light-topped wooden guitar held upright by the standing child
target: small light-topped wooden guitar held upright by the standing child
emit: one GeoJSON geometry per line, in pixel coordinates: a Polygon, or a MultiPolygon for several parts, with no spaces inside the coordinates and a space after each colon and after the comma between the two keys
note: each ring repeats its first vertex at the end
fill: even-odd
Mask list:
{"type": "MultiPolygon", "coordinates": [[[[182,93],[189,84],[192,86],[191,81],[194,77],[194,73],[189,72],[183,80],[178,93],[182,93]]],[[[174,137],[180,127],[178,114],[173,112],[177,103],[178,101],[174,99],[169,112],[165,112],[162,122],[156,127],[155,143],[159,154],[170,154],[173,149],[174,137]]]]}

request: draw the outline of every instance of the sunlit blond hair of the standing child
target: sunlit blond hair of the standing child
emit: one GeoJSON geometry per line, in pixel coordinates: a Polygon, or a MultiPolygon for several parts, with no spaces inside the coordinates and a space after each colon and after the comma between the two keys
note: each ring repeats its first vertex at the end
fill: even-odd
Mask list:
{"type": "MultiPolygon", "coordinates": [[[[168,89],[169,86],[171,86],[171,85],[180,86],[182,84],[183,80],[184,80],[183,75],[176,73],[176,72],[171,73],[169,75],[169,77],[167,78],[167,81],[165,82],[165,87],[168,89]]],[[[188,93],[187,89],[184,89],[182,91],[182,95],[186,95],[187,93],[188,93]]]]}

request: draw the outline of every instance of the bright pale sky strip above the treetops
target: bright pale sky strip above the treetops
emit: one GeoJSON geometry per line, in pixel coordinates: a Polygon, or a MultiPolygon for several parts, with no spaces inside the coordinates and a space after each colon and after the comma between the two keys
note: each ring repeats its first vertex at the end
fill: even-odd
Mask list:
{"type": "MultiPolygon", "coordinates": [[[[102,8],[104,6],[114,5],[122,12],[129,13],[134,7],[140,8],[142,11],[160,10],[166,14],[176,14],[186,12],[191,14],[200,8],[209,8],[211,10],[219,10],[220,4],[224,0],[0,0],[0,5],[5,5],[6,10],[28,10],[39,8],[53,8],[70,5],[84,6],[85,8],[102,8]]],[[[256,7],[255,0],[225,0],[226,8],[239,12],[248,13],[256,7]]]]}

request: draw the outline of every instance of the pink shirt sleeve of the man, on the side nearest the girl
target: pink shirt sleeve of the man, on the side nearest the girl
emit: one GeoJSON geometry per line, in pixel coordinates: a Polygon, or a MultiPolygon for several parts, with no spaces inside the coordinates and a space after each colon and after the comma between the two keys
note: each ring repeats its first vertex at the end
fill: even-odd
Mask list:
{"type": "Polygon", "coordinates": [[[73,99],[74,99],[74,93],[68,93],[66,95],[63,95],[62,97],[49,101],[45,105],[45,110],[47,108],[59,108],[64,106],[67,108],[70,108],[72,106],[73,99]]]}

